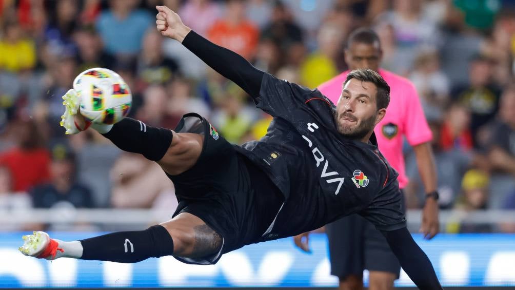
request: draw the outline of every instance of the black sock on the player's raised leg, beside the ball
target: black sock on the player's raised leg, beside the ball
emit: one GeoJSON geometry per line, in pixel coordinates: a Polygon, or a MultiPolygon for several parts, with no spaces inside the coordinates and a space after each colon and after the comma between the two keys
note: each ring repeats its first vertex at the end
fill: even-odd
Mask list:
{"type": "Polygon", "coordinates": [[[173,138],[170,129],[150,127],[131,118],[123,118],[114,124],[109,132],[102,135],[118,148],[143,154],[146,159],[152,161],[163,158],[173,138]]]}

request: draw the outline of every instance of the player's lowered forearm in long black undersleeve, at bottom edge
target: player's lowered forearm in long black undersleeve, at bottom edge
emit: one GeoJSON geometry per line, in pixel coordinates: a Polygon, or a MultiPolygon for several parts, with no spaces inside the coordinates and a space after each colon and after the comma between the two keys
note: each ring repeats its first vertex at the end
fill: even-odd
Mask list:
{"type": "Polygon", "coordinates": [[[431,261],[415,243],[407,228],[381,231],[409,278],[422,290],[442,289],[431,261]]]}

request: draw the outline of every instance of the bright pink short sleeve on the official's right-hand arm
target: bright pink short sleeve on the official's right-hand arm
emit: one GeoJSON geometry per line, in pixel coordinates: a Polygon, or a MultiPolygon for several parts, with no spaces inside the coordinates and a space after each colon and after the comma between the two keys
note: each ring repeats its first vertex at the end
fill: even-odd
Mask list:
{"type": "Polygon", "coordinates": [[[411,146],[416,146],[433,139],[433,133],[427,125],[424,110],[420,103],[417,90],[413,84],[409,83],[406,88],[406,110],[404,118],[404,128],[406,139],[411,146]]]}

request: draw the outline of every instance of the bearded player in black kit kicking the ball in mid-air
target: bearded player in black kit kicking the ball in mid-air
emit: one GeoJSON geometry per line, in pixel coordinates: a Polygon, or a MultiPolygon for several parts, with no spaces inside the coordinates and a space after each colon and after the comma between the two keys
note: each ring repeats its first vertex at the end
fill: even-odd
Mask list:
{"type": "MultiPolygon", "coordinates": [[[[157,8],[163,36],[181,42],[274,117],[267,135],[231,145],[194,113],[184,115],[174,130],[130,118],[114,125],[92,124],[119,148],[161,165],[176,186],[176,212],[143,231],[81,241],[35,232],[25,237],[24,254],[123,263],[173,255],[185,263],[214,264],[244,245],[293,236],[359,212],[386,236],[421,289],[441,289],[431,262],[406,229],[397,173],[371,138],[388,106],[389,87],[379,74],[349,74],[335,107],[319,91],[255,69],[197,35],[174,11],[157,8]]],[[[77,95],[69,91],[64,99],[63,125],[68,133],[78,133],[88,123],[77,113],[77,95]]]]}

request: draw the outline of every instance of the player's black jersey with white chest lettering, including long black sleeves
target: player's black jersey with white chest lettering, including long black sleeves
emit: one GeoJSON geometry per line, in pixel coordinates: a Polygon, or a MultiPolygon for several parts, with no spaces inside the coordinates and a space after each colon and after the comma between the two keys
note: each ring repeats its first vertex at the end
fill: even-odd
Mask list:
{"type": "MultiPolygon", "coordinates": [[[[347,140],[337,132],[333,121],[335,108],[327,98],[318,91],[278,80],[256,69],[243,57],[194,31],[187,33],[182,44],[216,72],[234,81],[259,108],[274,117],[262,140],[235,146],[262,168],[285,196],[266,234],[258,233],[261,239],[244,243],[295,235],[357,212],[386,231],[383,234],[392,251],[420,289],[441,289],[431,262],[405,228],[397,173],[376,146],[347,140]]],[[[248,172],[252,174],[252,170],[248,172]]],[[[259,182],[259,178],[252,180],[259,182]]],[[[277,191],[271,186],[263,184],[258,186],[258,191],[277,191]]],[[[233,197],[241,197],[242,193],[238,193],[233,192],[233,197]]],[[[243,200],[248,200],[247,197],[252,196],[244,196],[243,200]]],[[[231,202],[239,199],[242,198],[231,202]]],[[[266,200],[264,204],[278,202],[270,197],[266,200]]],[[[247,210],[246,206],[235,203],[229,208],[228,212],[247,210]]],[[[209,212],[212,216],[216,209],[210,208],[209,212]]],[[[259,211],[258,214],[261,215],[259,211]]],[[[242,221],[235,217],[231,220],[242,221]]]]}

